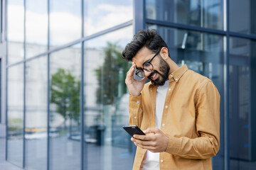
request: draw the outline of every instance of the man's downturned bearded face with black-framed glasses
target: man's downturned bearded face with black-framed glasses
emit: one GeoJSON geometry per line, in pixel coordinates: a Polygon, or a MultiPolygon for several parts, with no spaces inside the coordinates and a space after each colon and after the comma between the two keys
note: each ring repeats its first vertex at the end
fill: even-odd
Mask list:
{"type": "MultiPolygon", "coordinates": [[[[152,57],[154,57],[154,53],[152,53],[148,48],[142,47],[142,49],[137,52],[137,55],[132,58],[132,61],[135,62],[137,69],[142,69],[143,64],[149,62],[152,57]]],[[[144,76],[153,84],[159,86],[164,85],[165,81],[169,77],[169,64],[160,55],[154,57],[150,63],[152,64],[153,69],[151,72],[144,69],[144,76]]]]}

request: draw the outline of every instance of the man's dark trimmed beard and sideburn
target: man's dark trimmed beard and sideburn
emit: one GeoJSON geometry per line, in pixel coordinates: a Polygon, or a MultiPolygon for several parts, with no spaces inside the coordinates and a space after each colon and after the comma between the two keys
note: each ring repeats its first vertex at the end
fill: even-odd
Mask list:
{"type": "Polygon", "coordinates": [[[153,72],[151,72],[149,77],[152,77],[155,73],[159,74],[159,77],[155,80],[152,80],[149,77],[148,79],[151,81],[152,84],[156,84],[157,86],[163,86],[169,77],[170,67],[169,67],[169,64],[164,59],[162,59],[162,57],[159,57],[159,58],[160,58],[159,71],[162,72],[162,74],[154,70],[153,72]]]}

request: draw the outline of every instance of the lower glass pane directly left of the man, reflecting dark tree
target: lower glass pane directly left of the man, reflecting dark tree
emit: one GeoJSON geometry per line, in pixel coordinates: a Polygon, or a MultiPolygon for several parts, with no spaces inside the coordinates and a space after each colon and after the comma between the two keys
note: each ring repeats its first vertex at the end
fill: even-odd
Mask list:
{"type": "Polygon", "coordinates": [[[134,149],[122,129],[129,123],[124,79],[131,64],[121,57],[132,35],[129,26],[85,42],[85,169],[132,169],[134,149]]]}

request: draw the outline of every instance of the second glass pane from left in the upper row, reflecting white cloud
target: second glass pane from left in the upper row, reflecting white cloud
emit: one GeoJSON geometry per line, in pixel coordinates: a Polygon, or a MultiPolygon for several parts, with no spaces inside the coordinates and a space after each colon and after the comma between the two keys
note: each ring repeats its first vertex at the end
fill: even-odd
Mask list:
{"type": "Polygon", "coordinates": [[[47,50],[47,0],[26,0],[26,58],[47,50]]]}

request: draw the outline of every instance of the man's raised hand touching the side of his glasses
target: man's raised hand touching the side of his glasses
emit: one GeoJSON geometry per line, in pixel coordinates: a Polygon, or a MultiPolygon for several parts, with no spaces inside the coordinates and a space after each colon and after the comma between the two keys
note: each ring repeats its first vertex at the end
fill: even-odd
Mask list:
{"type": "Polygon", "coordinates": [[[132,62],[132,67],[127,72],[127,77],[125,79],[125,84],[127,84],[127,87],[129,89],[129,93],[132,96],[139,96],[144,84],[146,83],[146,77],[144,77],[141,81],[134,79],[134,70],[135,70],[136,64],[132,62]]]}

